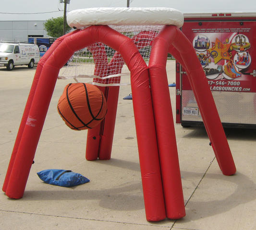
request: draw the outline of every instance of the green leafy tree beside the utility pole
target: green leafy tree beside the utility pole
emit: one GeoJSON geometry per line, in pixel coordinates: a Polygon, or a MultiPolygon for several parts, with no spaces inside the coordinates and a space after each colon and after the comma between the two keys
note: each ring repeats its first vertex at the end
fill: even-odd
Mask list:
{"type": "MultiPolygon", "coordinates": [[[[47,34],[51,37],[60,37],[63,35],[63,17],[51,18],[44,23],[45,30],[47,34]]],[[[68,23],[66,23],[66,33],[68,33],[71,28],[68,23]]]]}

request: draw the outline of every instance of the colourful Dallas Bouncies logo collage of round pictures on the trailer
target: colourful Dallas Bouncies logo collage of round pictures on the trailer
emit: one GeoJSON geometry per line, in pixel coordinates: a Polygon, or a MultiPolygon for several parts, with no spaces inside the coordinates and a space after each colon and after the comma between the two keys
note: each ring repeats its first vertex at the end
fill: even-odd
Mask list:
{"type": "MultiPolygon", "coordinates": [[[[250,28],[247,28],[250,31],[250,28]]],[[[239,32],[214,32],[192,30],[193,46],[210,80],[233,80],[241,78],[251,64],[249,39],[239,32]],[[212,42],[210,42],[210,39],[212,42]]],[[[216,29],[215,29],[216,31],[216,29]]],[[[218,28],[218,31],[221,31],[218,28]]],[[[226,28],[225,31],[228,31],[226,28]]],[[[231,30],[230,30],[231,31],[231,30]]],[[[234,30],[232,30],[234,31],[234,30]]],[[[245,80],[237,79],[240,81],[245,80]]],[[[226,88],[222,88],[224,91],[226,88]]]]}

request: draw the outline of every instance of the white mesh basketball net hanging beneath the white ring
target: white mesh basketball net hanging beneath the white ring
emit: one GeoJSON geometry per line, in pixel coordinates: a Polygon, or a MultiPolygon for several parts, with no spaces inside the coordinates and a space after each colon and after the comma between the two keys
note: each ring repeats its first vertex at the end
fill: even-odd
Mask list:
{"type": "MultiPolygon", "coordinates": [[[[147,63],[151,43],[161,30],[161,25],[125,25],[110,26],[125,36],[130,37],[147,63]]],[[[129,75],[121,55],[102,43],[95,43],[74,52],[68,65],[60,70],[59,79],[73,78],[75,81],[91,82],[98,86],[115,86],[121,84],[121,76],[129,75]],[[79,79],[79,80],[78,80],[79,79]]],[[[122,84],[125,84],[122,82],[122,84]]]]}

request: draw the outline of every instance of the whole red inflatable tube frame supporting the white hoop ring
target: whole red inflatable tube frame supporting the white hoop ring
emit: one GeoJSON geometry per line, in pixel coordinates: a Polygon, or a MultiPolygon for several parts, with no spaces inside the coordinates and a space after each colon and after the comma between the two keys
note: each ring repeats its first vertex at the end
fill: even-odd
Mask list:
{"type": "MultiPolygon", "coordinates": [[[[74,51],[89,47],[93,53],[92,45],[96,42],[106,44],[118,51],[119,54],[116,55],[122,55],[131,72],[134,118],[147,220],[159,221],[166,217],[180,219],[185,216],[166,74],[168,52],[187,71],[222,173],[225,175],[235,173],[232,154],[207,79],[191,43],[176,26],[164,26],[152,42],[149,66],[147,67],[133,40],[135,37],[134,39],[128,38],[108,25],[92,25],[57,39],[41,58],[37,65],[3,184],[3,191],[7,196],[19,199],[24,194],[59,70],[74,51]],[[197,84],[197,81],[200,81],[200,84],[197,84]]],[[[109,71],[121,72],[121,69],[113,67],[115,58],[110,64],[106,60],[101,61],[103,63],[101,64],[106,66],[106,74],[109,71]]],[[[95,71],[98,71],[97,67],[95,71]]],[[[105,122],[88,132],[87,160],[96,160],[98,157],[99,159],[110,159],[119,87],[99,88],[103,92],[108,91],[106,92],[107,100],[113,105],[112,108],[108,108],[105,122]],[[103,135],[100,138],[101,143],[99,143],[98,137],[102,127],[104,127],[104,132],[110,135],[103,135]],[[110,139],[104,140],[106,136],[110,136],[110,139]],[[92,137],[96,137],[97,141],[92,143],[92,137]]],[[[108,106],[110,105],[108,104],[108,106]]]]}

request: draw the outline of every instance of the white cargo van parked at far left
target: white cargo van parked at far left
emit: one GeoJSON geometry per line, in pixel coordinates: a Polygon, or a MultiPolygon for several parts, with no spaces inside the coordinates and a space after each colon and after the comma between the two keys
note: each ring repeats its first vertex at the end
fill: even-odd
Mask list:
{"type": "Polygon", "coordinates": [[[39,49],[35,44],[1,43],[0,66],[12,70],[16,65],[27,65],[29,69],[39,61],[39,49]]]}

